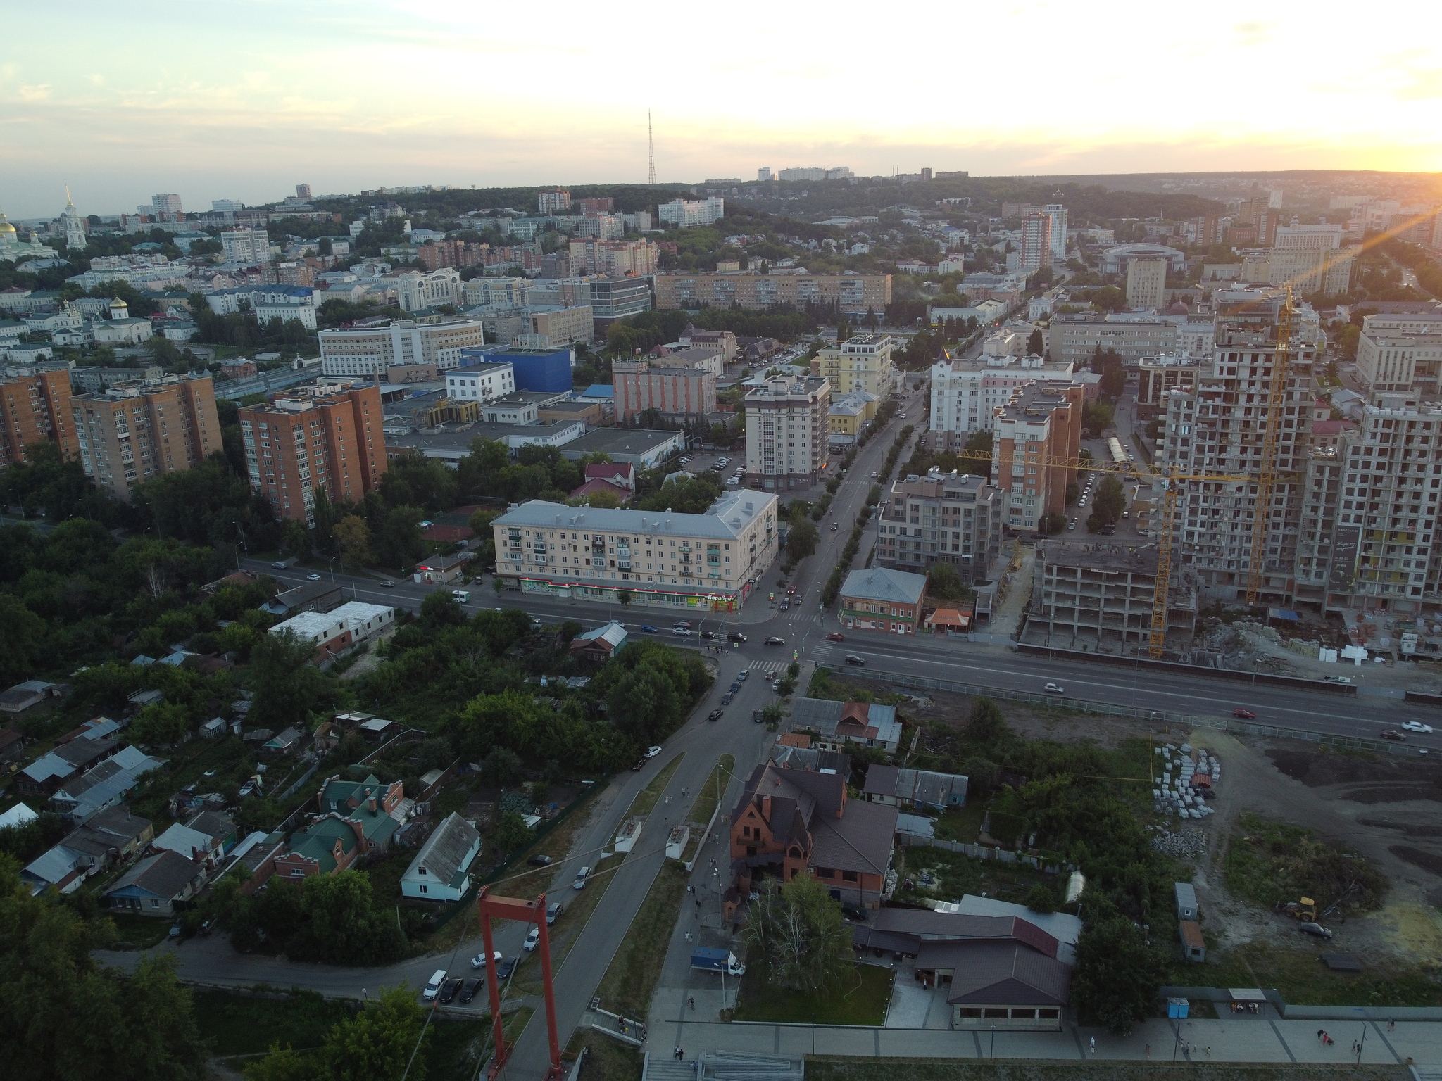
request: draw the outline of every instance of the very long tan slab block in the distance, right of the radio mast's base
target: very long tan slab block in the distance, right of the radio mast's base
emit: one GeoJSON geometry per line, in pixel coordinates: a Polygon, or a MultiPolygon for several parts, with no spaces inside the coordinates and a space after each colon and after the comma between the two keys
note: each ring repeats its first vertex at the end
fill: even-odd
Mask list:
{"type": "Polygon", "coordinates": [[[796,308],[836,307],[844,314],[881,313],[891,303],[890,274],[658,274],[656,307],[741,307],[766,311],[776,304],[796,308]]]}

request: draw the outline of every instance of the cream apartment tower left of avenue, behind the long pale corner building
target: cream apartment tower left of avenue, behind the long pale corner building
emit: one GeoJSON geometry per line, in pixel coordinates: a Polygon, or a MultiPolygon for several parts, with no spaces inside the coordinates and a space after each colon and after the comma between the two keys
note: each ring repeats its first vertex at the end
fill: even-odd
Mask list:
{"type": "Polygon", "coordinates": [[[809,489],[831,445],[831,382],[767,379],[746,396],[746,483],[764,491],[809,489]]]}

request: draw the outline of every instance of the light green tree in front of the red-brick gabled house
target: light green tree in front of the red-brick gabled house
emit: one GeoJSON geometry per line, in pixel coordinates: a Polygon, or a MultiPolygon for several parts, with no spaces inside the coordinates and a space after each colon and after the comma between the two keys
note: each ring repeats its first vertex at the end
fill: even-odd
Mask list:
{"type": "Polygon", "coordinates": [[[744,935],[764,956],[771,982],[803,995],[839,987],[855,964],[841,905],[810,875],[753,901],[744,935]]]}

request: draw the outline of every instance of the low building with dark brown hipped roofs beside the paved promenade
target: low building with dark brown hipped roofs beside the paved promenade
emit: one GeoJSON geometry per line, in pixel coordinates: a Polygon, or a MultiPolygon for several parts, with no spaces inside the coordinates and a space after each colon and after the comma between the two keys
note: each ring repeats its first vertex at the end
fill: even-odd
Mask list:
{"type": "Polygon", "coordinates": [[[883,908],[852,928],[852,946],[914,957],[917,979],[949,984],[955,1029],[1061,1031],[1071,966],[1030,920],[883,908]]]}

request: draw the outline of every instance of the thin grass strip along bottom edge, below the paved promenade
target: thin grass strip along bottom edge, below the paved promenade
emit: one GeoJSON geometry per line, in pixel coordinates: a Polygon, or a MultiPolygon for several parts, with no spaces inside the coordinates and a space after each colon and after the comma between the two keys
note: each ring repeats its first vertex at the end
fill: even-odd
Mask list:
{"type": "MultiPolygon", "coordinates": [[[[622,1077],[622,1075],[619,1075],[622,1077]]],[[[1406,1081],[1406,1067],[1250,1065],[1242,1062],[968,1062],[956,1058],[806,1056],[809,1081],[1406,1081]]]]}

